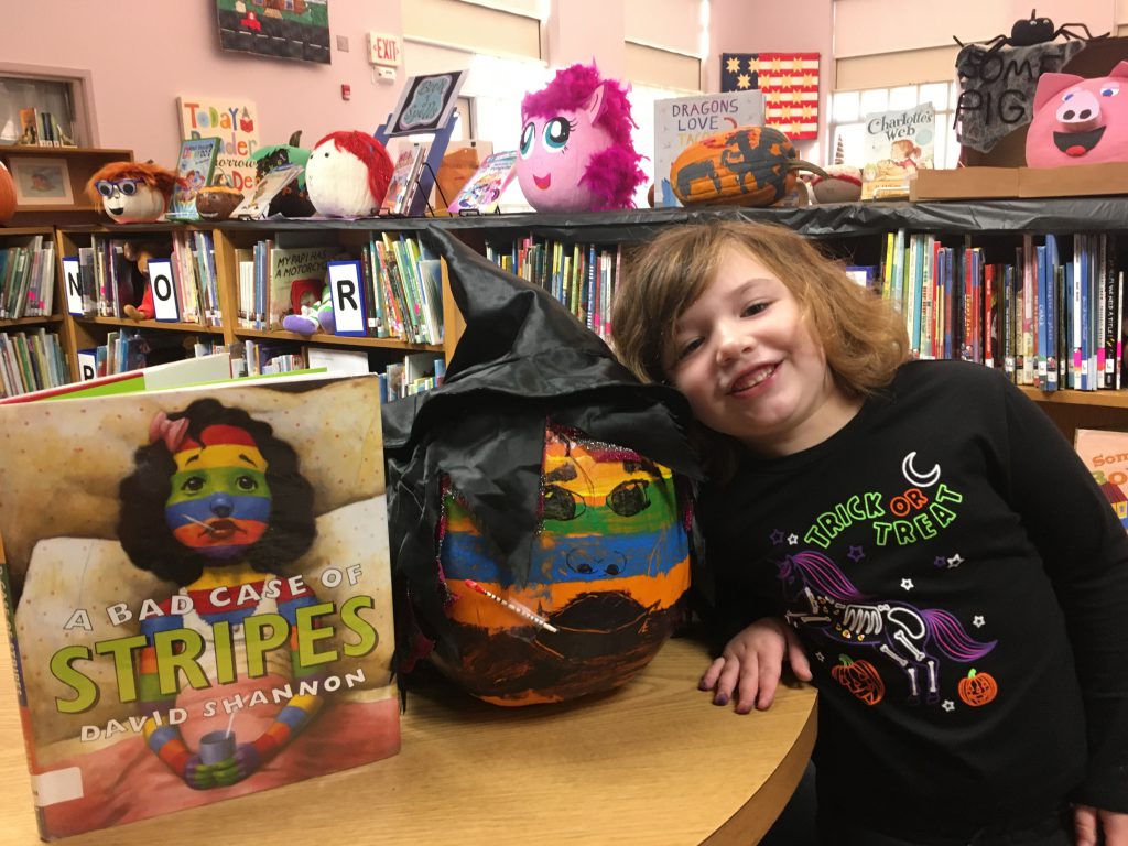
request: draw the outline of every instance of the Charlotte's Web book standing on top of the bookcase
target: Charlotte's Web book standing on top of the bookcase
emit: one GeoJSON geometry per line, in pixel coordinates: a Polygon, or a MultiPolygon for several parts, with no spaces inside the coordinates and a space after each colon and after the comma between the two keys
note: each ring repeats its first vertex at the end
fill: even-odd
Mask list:
{"type": "Polygon", "coordinates": [[[908,196],[909,179],[932,168],[936,111],[931,103],[865,116],[862,199],[908,196]]]}

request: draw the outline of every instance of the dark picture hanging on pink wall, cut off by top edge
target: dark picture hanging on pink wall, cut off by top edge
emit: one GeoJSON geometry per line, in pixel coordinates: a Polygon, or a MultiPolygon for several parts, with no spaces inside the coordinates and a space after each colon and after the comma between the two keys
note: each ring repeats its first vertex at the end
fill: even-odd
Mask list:
{"type": "Polygon", "coordinates": [[[329,63],[328,0],[215,0],[222,50],[329,63]]]}

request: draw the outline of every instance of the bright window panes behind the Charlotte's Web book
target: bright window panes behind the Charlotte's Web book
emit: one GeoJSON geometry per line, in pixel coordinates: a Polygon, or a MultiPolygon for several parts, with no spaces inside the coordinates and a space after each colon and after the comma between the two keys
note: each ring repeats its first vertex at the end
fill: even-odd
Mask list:
{"type": "MultiPolygon", "coordinates": [[[[937,168],[955,167],[960,144],[955,140],[955,104],[960,98],[959,82],[927,82],[896,88],[869,88],[860,91],[835,91],[830,95],[830,150],[841,144],[843,161],[862,167],[865,164],[863,138],[865,116],[874,112],[913,108],[932,103],[936,111],[933,160],[937,168]]],[[[836,158],[836,152],[828,155],[836,158]]]]}

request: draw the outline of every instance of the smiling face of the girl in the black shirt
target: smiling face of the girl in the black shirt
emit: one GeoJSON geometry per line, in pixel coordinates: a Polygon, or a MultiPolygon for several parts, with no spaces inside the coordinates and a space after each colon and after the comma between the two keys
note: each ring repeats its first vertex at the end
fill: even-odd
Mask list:
{"type": "Polygon", "coordinates": [[[698,420],[761,455],[813,447],[861,407],[836,385],[787,285],[734,246],[678,318],[663,364],[698,420]]]}

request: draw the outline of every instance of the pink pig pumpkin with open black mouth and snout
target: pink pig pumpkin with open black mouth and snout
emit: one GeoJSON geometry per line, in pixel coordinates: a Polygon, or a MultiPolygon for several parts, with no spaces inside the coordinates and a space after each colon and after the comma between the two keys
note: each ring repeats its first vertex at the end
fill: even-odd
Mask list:
{"type": "Polygon", "coordinates": [[[1128,62],[1098,79],[1073,73],[1040,76],[1034,118],[1026,131],[1026,165],[1101,161],[1128,161],[1128,62]]]}

